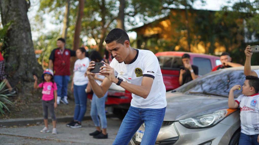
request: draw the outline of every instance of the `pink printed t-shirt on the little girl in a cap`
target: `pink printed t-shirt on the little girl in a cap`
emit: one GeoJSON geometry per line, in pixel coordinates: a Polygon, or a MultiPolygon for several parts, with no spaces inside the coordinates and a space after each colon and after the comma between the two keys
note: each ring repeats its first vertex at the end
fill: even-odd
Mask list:
{"type": "Polygon", "coordinates": [[[54,82],[44,82],[39,84],[42,89],[42,100],[50,101],[54,99],[54,90],[57,90],[57,84],[54,82]]]}

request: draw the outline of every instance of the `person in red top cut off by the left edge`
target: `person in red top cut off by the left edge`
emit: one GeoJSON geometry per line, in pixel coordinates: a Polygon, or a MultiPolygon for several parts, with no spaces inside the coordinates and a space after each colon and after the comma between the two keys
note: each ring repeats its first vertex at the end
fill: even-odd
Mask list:
{"type": "Polygon", "coordinates": [[[9,89],[9,94],[15,94],[16,91],[11,87],[8,80],[5,78],[5,72],[4,72],[4,57],[2,56],[2,53],[0,52],[0,80],[4,81],[6,83],[6,87],[9,89]]]}

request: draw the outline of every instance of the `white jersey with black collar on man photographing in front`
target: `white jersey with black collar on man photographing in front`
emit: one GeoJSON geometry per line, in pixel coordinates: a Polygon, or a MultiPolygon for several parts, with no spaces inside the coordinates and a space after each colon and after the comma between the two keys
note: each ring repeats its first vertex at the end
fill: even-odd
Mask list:
{"type": "Polygon", "coordinates": [[[130,64],[119,63],[115,58],[110,64],[114,68],[115,76],[119,74],[128,83],[141,86],[143,76],[154,79],[146,99],[132,93],[131,106],[152,109],[166,107],[166,87],[157,57],[149,50],[135,50],[137,50],[136,57],[130,64]]]}

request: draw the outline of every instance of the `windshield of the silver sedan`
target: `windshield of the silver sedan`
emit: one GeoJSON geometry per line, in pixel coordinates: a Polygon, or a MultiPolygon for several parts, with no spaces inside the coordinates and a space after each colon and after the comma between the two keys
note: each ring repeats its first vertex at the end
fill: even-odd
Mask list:
{"type": "MultiPolygon", "coordinates": [[[[229,90],[236,84],[243,86],[245,75],[243,70],[221,70],[211,72],[175,89],[188,95],[224,96],[228,97],[229,90]]],[[[242,90],[234,92],[235,98],[242,90]]]]}

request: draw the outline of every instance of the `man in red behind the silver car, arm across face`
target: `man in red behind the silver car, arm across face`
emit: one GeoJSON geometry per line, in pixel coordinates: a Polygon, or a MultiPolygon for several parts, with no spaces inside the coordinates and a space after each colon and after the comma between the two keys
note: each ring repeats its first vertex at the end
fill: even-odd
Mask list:
{"type": "Polygon", "coordinates": [[[231,62],[232,61],[232,58],[230,57],[229,53],[227,52],[223,52],[221,55],[220,55],[220,61],[221,61],[221,65],[217,65],[215,66],[211,71],[217,71],[217,70],[220,70],[220,69],[225,69],[225,68],[228,68],[228,67],[238,67],[238,66],[243,66],[241,64],[238,64],[238,63],[233,63],[231,62]]]}

